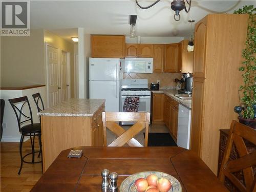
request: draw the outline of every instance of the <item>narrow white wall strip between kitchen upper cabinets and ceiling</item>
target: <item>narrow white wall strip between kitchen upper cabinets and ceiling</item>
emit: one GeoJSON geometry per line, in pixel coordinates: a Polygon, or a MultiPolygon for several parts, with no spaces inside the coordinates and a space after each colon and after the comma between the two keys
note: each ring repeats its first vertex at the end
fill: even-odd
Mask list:
{"type": "Polygon", "coordinates": [[[138,37],[130,38],[129,36],[125,37],[126,44],[172,44],[180,42],[184,37],[139,37],[140,42],[138,42],[138,37]]]}

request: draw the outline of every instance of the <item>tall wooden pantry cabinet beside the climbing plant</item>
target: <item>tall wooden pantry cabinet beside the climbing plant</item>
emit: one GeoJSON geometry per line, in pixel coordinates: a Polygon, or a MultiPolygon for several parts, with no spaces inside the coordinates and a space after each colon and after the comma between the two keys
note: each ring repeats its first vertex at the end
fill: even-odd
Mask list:
{"type": "Polygon", "coordinates": [[[220,129],[229,129],[243,84],[248,16],[209,14],[195,26],[190,149],[217,174],[220,129]]]}

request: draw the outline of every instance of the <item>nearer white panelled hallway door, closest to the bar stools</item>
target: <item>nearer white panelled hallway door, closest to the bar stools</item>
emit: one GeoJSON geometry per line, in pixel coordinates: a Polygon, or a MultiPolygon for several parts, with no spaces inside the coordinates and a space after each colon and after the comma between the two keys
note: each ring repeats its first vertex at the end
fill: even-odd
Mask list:
{"type": "Polygon", "coordinates": [[[48,108],[60,102],[58,49],[47,45],[48,108]]]}

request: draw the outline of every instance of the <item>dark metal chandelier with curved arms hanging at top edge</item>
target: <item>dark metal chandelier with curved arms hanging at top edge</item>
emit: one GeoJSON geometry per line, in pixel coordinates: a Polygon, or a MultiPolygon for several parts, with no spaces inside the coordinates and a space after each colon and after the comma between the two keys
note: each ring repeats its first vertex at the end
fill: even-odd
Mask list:
{"type": "MultiPolygon", "coordinates": [[[[160,0],[155,1],[153,4],[151,4],[150,6],[147,7],[142,7],[141,5],[139,5],[138,0],[135,0],[136,4],[139,8],[141,9],[148,9],[151,8],[152,6],[156,5],[158,2],[160,2],[160,0]]],[[[174,14],[174,20],[176,20],[177,22],[180,20],[180,11],[185,9],[185,11],[188,13],[191,7],[191,1],[192,0],[186,0],[187,4],[188,4],[188,9],[186,8],[185,5],[185,1],[184,0],[173,0],[173,2],[170,4],[170,8],[172,8],[172,10],[175,11],[174,14]],[[176,18],[176,16],[178,16],[178,18],[176,18]]]]}

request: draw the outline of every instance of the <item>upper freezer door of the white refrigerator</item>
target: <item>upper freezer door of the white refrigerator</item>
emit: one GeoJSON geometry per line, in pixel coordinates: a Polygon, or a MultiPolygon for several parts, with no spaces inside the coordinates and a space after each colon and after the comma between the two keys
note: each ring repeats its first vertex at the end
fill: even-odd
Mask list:
{"type": "Polygon", "coordinates": [[[90,58],[89,79],[119,81],[120,59],[90,58]]]}

